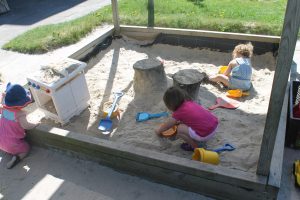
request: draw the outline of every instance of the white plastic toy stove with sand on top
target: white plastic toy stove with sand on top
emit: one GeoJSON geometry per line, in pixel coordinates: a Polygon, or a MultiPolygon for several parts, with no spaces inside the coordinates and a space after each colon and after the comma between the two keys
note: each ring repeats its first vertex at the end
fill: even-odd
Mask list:
{"type": "Polygon", "coordinates": [[[67,58],[43,66],[27,78],[36,105],[46,118],[65,124],[87,108],[90,95],[85,67],[86,63],[67,58]]]}

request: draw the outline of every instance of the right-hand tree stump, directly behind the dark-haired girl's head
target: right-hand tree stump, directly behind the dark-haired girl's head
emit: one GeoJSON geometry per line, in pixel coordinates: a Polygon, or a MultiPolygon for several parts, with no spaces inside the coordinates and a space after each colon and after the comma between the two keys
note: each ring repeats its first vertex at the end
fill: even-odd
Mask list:
{"type": "Polygon", "coordinates": [[[183,69],[176,72],[172,78],[174,86],[185,90],[194,101],[197,101],[203,74],[196,69],[183,69]]]}

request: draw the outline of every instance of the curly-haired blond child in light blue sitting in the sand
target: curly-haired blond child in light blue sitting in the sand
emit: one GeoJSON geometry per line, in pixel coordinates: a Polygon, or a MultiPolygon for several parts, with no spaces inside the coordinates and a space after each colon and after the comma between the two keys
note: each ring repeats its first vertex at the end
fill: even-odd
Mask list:
{"type": "Polygon", "coordinates": [[[239,44],[235,46],[227,70],[224,74],[209,77],[210,81],[221,82],[230,89],[249,90],[251,87],[252,66],[250,58],[253,54],[253,46],[239,44]],[[231,74],[231,75],[230,75],[231,74]]]}

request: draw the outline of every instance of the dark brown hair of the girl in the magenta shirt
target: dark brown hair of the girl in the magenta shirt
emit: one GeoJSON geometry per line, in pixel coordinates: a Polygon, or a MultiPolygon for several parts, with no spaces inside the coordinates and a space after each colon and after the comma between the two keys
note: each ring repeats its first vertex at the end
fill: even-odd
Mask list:
{"type": "Polygon", "coordinates": [[[173,86],[167,89],[163,100],[169,110],[175,111],[184,101],[191,100],[191,97],[181,88],[173,86]]]}

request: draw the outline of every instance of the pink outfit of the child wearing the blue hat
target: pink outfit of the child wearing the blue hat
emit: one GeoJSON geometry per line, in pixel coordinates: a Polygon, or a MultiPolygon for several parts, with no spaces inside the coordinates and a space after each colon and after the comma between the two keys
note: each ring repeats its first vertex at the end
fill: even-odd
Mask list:
{"type": "Polygon", "coordinates": [[[26,120],[26,113],[16,109],[0,108],[0,149],[17,155],[27,153],[29,145],[25,141],[25,130],[34,125],[26,120]]]}

